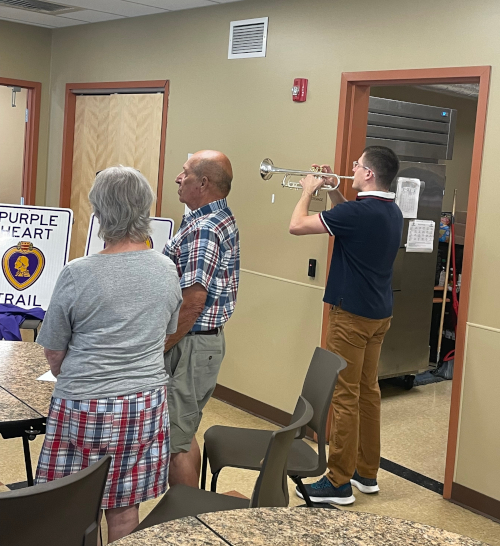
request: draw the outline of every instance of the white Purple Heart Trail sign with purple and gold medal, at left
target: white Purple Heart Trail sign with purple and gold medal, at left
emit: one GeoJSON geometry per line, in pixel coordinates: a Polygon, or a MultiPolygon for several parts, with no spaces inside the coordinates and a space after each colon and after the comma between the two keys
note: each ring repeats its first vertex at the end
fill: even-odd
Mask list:
{"type": "Polygon", "coordinates": [[[70,209],[0,204],[0,303],[47,310],[72,225],[70,209]]]}

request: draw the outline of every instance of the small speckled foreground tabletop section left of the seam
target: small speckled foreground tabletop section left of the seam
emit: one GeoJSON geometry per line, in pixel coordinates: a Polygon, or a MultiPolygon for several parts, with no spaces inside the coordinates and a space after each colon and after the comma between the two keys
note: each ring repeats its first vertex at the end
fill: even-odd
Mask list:
{"type": "Polygon", "coordinates": [[[225,543],[196,518],[182,518],[132,533],[112,543],[113,546],[172,544],[178,546],[224,546],[225,543]]]}

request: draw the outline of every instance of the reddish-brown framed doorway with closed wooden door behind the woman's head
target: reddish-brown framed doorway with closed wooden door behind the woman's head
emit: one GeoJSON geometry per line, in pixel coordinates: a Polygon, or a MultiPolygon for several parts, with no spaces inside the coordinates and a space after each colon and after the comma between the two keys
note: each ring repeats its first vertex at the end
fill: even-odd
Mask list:
{"type": "Polygon", "coordinates": [[[97,172],[123,164],[139,170],[157,196],[159,215],[165,155],[168,82],[68,84],[60,205],[74,213],[70,259],[84,254],[97,172]]]}

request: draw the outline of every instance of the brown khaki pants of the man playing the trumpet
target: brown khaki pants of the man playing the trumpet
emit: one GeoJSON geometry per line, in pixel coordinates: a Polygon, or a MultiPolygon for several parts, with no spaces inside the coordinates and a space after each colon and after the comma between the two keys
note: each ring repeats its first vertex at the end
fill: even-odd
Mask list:
{"type": "Polygon", "coordinates": [[[391,317],[368,319],[332,307],[326,348],[343,357],[332,399],[328,479],[335,487],[349,483],[357,469],[375,479],[380,465],[380,389],[378,361],[391,317]]]}

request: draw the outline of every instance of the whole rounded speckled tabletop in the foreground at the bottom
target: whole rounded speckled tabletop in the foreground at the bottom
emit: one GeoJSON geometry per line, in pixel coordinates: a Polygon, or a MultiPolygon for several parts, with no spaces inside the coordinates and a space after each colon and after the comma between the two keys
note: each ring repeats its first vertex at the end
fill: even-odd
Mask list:
{"type": "Polygon", "coordinates": [[[421,523],[324,508],[257,508],[155,525],[113,543],[220,546],[486,546],[421,523]]]}

